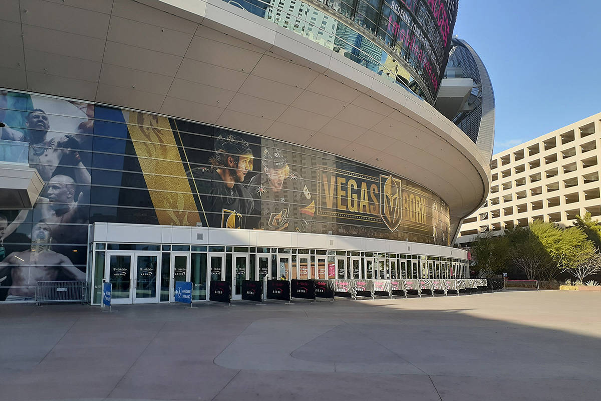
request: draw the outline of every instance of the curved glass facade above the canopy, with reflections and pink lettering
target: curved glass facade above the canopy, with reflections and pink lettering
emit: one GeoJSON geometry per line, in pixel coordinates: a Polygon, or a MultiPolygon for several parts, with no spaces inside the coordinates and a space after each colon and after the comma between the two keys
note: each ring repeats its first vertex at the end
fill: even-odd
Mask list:
{"type": "Polygon", "coordinates": [[[433,103],[457,0],[224,0],[303,35],[433,103]]]}

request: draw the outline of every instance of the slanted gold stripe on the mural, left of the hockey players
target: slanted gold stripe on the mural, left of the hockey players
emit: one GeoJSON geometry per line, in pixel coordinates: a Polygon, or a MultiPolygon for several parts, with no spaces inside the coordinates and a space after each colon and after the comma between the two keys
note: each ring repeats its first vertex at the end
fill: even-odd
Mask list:
{"type": "Polygon", "coordinates": [[[197,225],[200,215],[168,118],[136,111],[124,115],[159,224],[197,225]]]}

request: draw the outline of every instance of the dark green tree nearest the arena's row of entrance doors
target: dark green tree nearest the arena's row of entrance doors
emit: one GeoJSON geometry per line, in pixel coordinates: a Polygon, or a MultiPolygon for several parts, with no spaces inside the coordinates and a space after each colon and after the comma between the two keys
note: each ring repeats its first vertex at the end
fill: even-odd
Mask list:
{"type": "Polygon", "coordinates": [[[508,240],[504,236],[479,236],[471,247],[473,268],[480,276],[492,278],[501,274],[508,260],[508,240]]]}

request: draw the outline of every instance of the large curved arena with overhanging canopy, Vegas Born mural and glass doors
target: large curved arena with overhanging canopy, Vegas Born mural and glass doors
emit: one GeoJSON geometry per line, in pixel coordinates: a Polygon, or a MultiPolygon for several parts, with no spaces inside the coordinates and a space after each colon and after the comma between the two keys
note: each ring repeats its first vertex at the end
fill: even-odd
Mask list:
{"type": "Polygon", "coordinates": [[[0,300],[468,274],[489,160],[433,107],[456,1],[1,4],[0,300]]]}

